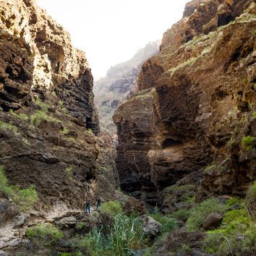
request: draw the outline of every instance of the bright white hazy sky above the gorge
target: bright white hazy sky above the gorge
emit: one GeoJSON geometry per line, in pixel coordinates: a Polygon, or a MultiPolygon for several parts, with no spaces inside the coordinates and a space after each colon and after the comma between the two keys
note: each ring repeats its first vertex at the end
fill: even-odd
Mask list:
{"type": "Polygon", "coordinates": [[[85,51],[95,80],[139,48],[162,38],[189,0],[38,0],[85,51]]]}

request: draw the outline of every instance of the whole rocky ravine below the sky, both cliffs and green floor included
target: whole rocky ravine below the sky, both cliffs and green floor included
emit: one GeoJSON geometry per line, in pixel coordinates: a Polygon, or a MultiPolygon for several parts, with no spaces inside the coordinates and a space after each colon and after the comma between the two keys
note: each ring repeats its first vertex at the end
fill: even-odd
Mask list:
{"type": "Polygon", "coordinates": [[[0,256],[256,255],[255,27],[253,0],[188,1],[93,82],[36,1],[1,1],[0,256]]]}

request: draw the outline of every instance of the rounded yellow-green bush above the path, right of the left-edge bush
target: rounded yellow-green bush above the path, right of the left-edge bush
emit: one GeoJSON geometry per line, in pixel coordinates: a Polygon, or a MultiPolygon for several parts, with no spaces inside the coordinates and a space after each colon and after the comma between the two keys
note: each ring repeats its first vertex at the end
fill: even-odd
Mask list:
{"type": "Polygon", "coordinates": [[[19,210],[24,212],[33,208],[35,202],[38,201],[38,192],[33,185],[26,189],[14,189],[13,200],[19,210]]]}

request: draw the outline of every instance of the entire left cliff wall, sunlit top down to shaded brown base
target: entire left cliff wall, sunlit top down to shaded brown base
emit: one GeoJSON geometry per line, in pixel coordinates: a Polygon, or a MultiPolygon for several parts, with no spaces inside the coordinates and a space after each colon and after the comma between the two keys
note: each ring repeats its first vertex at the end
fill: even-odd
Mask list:
{"type": "Polygon", "coordinates": [[[34,184],[44,207],[110,197],[114,152],[95,137],[85,55],[33,0],[2,2],[0,17],[0,164],[9,184],[34,184]]]}

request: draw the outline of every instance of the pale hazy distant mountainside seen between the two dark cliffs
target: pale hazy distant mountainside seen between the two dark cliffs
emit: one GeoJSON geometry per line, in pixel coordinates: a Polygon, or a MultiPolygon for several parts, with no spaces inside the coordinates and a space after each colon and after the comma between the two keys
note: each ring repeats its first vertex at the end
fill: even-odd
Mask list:
{"type": "Polygon", "coordinates": [[[108,70],[106,77],[95,82],[95,104],[98,108],[100,124],[111,134],[116,134],[112,116],[116,108],[135,93],[135,87],[142,63],[158,53],[159,42],[150,42],[137,51],[129,61],[117,64],[108,70]]]}

